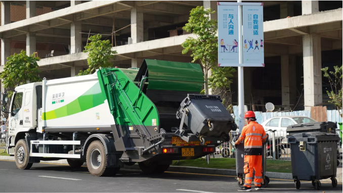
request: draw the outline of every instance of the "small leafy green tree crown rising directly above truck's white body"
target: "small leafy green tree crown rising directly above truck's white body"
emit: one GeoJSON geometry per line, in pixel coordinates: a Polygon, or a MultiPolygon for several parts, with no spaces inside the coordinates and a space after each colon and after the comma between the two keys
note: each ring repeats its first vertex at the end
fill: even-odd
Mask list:
{"type": "Polygon", "coordinates": [[[87,70],[81,71],[77,76],[93,74],[96,69],[109,68],[112,66],[112,63],[109,62],[110,59],[114,58],[114,55],[117,54],[116,51],[112,51],[112,44],[110,40],[101,40],[101,35],[93,35],[89,38],[89,42],[84,46],[84,53],[88,53],[88,66],[87,70]]]}

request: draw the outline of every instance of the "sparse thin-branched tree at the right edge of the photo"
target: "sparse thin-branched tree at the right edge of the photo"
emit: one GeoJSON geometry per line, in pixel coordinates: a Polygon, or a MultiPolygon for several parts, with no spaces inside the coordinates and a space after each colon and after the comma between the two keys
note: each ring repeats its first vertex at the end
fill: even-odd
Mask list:
{"type": "Polygon", "coordinates": [[[324,77],[329,80],[331,91],[326,90],[332,105],[338,110],[339,116],[342,117],[342,66],[334,66],[334,71],[329,71],[329,67],[322,68],[324,77]]]}

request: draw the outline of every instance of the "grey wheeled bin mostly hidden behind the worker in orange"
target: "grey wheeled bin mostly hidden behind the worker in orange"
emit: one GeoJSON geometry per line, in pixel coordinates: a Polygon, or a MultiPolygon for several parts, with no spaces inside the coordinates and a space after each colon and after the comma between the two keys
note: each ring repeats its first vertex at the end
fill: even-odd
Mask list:
{"type": "MultiPolygon", "coordinates": [[[[263,148],[263,152],[262,152],[262,177],[263,177],[263,184],[261,184],[261,187],[267,187],[269,182],[270,182],[270,179],[268,176],[266,176],[266,170],[267,170],[267,167],[266,167],[266,161],[267,161],[267,156],[266,156],[266,144],[268,142],[268,138],[269,138],[269,135],[267,134],[267,139],[266,139],[266,142],[264,142],[262,144],[262,148],[263,148]]],[[[238,134],[237,134],[237,131],[231,131],[231,139],[233,141],[233,144],[235,144],[235,141],[238,139],[238,134]]],[[[243,171],[243,166],[244,166],[244,155],[237,155],[238,152],[240,151],[237,151],[237,149],[242,149],[244,153],[244,140],[241,141],[239,143],[238,146],[236,146],[236,165],[238,167],[236,167],[236,173],[237,173],[237,180],[238,180],[238,177],[241,177],[242,180],[241,182],[238,180],[238,186],[239,187],[243,187],[244,185],[244,178],[245,178],[245,174],[244,174],[244,171],[243,171]]],[[[255,176],[255,171],[253,172],[253,176],[255,176]]],[[[252,180],[253,182],[253,180],[252,180]]]]}

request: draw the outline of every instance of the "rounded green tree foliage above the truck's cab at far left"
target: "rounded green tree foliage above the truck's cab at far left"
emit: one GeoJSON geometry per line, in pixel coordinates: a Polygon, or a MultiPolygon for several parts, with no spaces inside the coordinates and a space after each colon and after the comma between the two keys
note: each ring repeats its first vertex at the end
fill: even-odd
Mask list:
{"type": "Polygon", "coordinates": [[[20,54],[14,54],[7,57],[7,62],[4,71],[0,77],[3,78],[3,85],[5,89],[13,89],[17,85],[26,84],[29,82],[38,82],[41,79],[38,76],[37,61],[38,57],[34,55],[26,56],[25,51],[20,54]]]}

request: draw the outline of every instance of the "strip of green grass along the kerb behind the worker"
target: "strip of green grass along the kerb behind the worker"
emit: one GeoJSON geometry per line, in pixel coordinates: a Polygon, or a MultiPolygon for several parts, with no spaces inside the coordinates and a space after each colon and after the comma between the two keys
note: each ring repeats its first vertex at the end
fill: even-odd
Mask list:
{"type": "MultiPolygon", "coordinates": [[[[200,168],[215,168],[215,169],[236,169],[236,159],[232,158],[211,158],[209,164],[206,160],[201,158],[196,160],[180,160],[179,164],[177,161],[173,161],[172,166],[190,166],[200,168]]],[[[291,173],[291,162],[290,161],[279,161],[279,160],[267,160],[267,171],[268,172],[282,172],[291,173]]]]}

